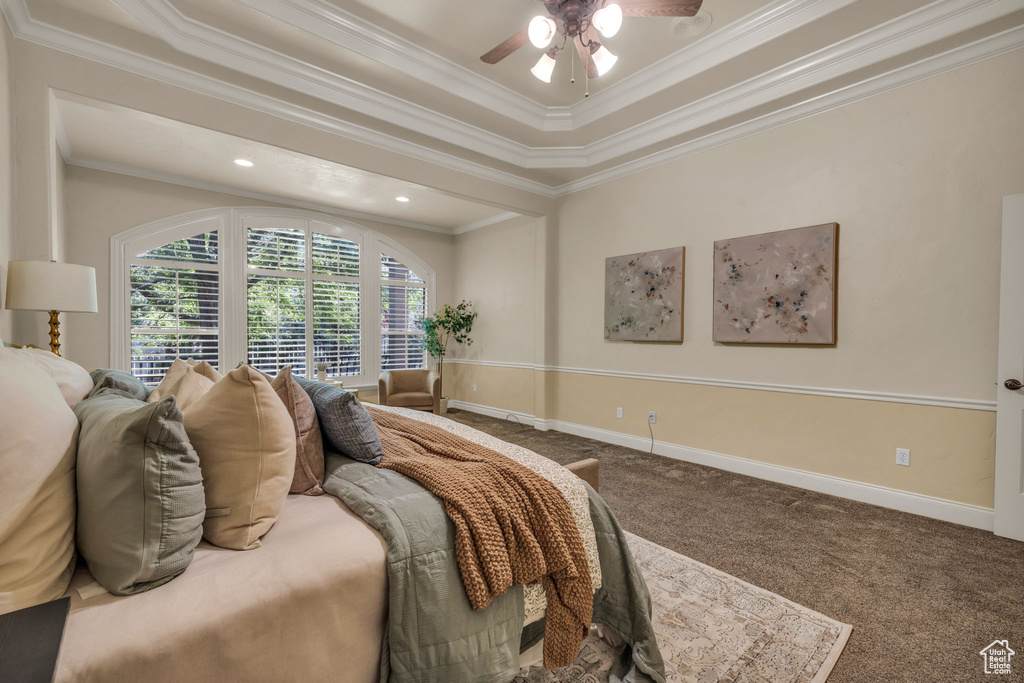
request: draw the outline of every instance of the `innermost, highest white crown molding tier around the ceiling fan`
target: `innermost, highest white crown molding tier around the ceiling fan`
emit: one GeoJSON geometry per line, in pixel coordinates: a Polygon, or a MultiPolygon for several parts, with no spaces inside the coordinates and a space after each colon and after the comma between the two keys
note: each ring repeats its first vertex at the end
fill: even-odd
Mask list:
{"type": "Polygon", "coordinates": [[[324,0],[239,0],[250,9],[542,131],[582,128],[856,0],[775,0],[571,106],[546,106],[324,0]]]}

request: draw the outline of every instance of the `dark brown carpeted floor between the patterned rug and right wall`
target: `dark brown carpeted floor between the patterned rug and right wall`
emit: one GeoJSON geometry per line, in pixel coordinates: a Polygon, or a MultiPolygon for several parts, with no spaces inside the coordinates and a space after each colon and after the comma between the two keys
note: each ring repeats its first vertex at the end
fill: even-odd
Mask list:
{"type": "Polygon", "coordinates": [[[601,462],[623,527],[853,625],[829,683],[985,681],[1009,639],[1024,681],[1024,543],[591,439],[453,411],[561,464],[601,462]]]}

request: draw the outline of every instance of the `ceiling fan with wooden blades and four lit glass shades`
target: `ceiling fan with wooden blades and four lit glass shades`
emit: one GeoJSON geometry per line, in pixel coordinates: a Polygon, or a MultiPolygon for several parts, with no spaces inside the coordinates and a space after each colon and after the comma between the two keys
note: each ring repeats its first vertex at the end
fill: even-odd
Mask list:
{"type": "MultiPolygon", "coordinates": [[[[535,16],[529,27],[482,55],[488,65],[498,63],[527,43],[547,48],[562,36],[562,44],[548,49],[530,72],[545,83],[551,83],[555,58],[571,40],[580,58],[586,65],[588,78],[608,73],[618,59],[601,44],[599,37],[611,38],[618,33],[624,16],[693,16],[703,0],[539,0],[548,16],[535,16]]],[[[572,79],[575,82],[575,79],[572,79]]],[[[587,93],[586,96],[589,96],[587,93]]]]}

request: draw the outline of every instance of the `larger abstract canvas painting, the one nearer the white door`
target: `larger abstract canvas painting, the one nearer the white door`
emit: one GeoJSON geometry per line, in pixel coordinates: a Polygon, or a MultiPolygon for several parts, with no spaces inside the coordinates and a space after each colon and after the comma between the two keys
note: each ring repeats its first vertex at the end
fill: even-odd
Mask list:
{"type": "Polygon", "coordinates": [[[715,243],[717,342],[835,344],[839,225],[715,243]]]}

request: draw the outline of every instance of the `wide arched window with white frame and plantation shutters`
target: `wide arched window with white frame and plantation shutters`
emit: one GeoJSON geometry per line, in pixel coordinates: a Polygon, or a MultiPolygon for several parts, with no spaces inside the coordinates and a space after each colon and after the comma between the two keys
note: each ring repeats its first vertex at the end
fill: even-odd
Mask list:
{"type": "Polygon", "coordinates": [[[111,242],[111,364],[147,384],[178,356],[306,377],[326,362],[349,386],[424,366],[418,322],[434,271],[373,230],[307,211],[215,209],[111,242]]]}

